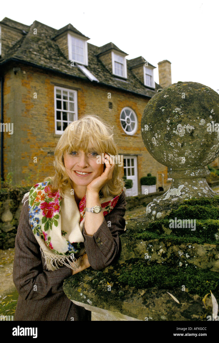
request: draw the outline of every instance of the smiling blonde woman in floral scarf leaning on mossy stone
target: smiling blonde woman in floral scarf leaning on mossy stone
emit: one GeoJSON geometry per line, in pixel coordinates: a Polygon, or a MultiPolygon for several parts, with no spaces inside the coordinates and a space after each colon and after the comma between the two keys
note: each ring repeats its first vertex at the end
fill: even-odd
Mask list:
{"type": "Polygon", "coordinates": [[[90,266],[107,267],[118,253],[126,201],[111,155],[117,155],[111,127],[82,116],[59,139],[55,175],[25,194],[15,239],[15,320],[91,320],[62,285],[90,266]]]}

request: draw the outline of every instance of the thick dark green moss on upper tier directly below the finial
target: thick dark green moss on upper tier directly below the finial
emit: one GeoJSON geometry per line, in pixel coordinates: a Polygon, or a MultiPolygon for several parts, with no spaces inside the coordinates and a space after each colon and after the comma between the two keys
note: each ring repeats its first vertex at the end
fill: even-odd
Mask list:
{"type": "Polygon", "coordinates": [[[149,240],[164,237],[176,244],[189,241],[219,245],[219,196],[184,200],[177,210],[172,210],[163,219],[144,222],[144,225],[138,225],[132,231],[132,239],[149,240]],[[170,228],[170,220],[175,221],[175,218],[196,220],[195,230],[191,231],[188,223],[187,228],[170,228]]]}

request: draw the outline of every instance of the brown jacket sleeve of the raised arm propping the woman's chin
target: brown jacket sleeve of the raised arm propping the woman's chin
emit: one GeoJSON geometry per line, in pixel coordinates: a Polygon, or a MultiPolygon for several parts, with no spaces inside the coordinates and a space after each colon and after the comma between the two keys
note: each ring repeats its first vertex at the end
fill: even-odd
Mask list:
{"type": "Polygon", "coordinates": [[[93,269],[103,269],[107,267],[116,257],[119,251],[119,233],[125,229],[126,197],[124,191],[114,209],[108,213],[103,223],[93,234],[89,236],[83,226],[85,238],[84,246],[88,255],[88,261],[93,269]]]}

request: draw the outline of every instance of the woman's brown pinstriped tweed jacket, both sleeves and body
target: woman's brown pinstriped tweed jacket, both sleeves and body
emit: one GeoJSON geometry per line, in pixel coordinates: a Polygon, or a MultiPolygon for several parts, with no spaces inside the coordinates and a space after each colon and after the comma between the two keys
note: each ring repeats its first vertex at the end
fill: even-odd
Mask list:
{"type": "MultiPolygon", "coordinates": [[[[124,191],[114,209],[108,213],[93,236],[83,228],[84,246],[90,268],[107,267],[119,250],[118,233],[125,228],[126,200],[124,191]],[[111,221],[111,227],[107,226],[111,221]]],[[[47,270],[45,259],[29,224],[28,201],[23,204],[15,238],[13,282],[19,293],[14,320],[91,320],[91,311],[74,305],[65,295],[62,285],[71,276],[63,266],[47,270]]]]}

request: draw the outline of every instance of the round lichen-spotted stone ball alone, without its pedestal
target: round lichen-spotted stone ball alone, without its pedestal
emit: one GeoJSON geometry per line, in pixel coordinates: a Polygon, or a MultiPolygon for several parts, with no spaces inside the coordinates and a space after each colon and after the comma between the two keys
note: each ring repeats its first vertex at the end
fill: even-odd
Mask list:
{"type": "Polygon", "coordinates": [[[197,168],[219,153],[219,132],[207,130],[212,121],[219,123],[219,94],[200,83],[178,82],[150,99],[141,135],[147,150],[163,165],[173,170],[197,168]]]}

